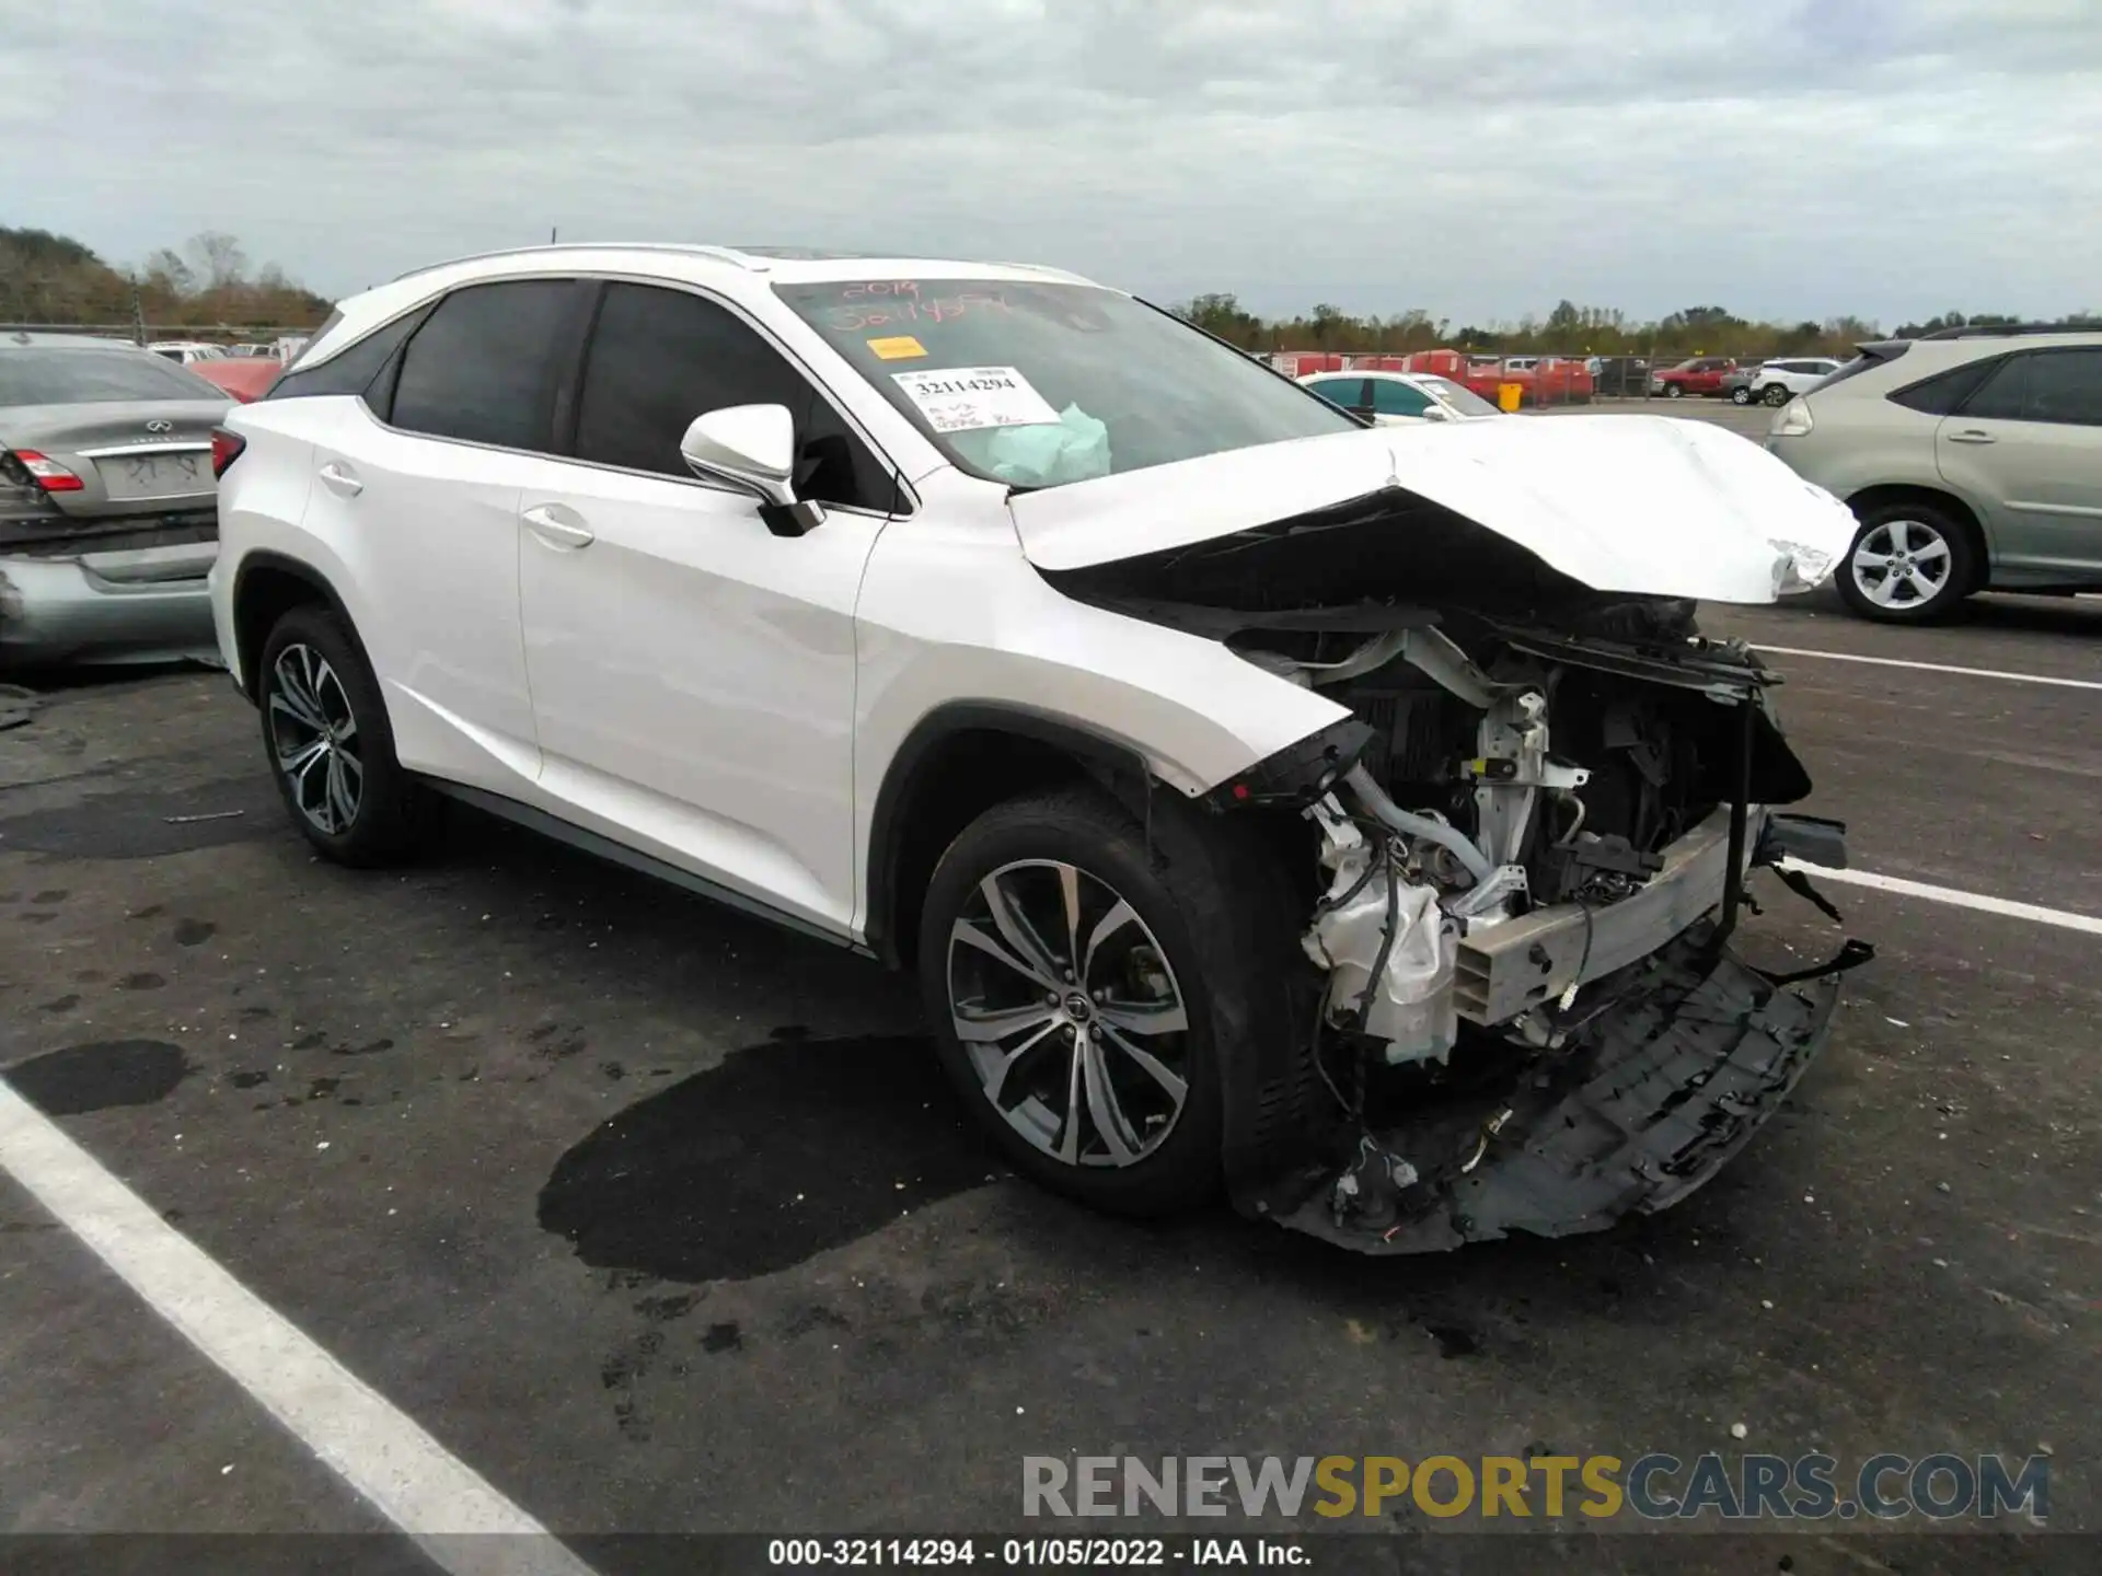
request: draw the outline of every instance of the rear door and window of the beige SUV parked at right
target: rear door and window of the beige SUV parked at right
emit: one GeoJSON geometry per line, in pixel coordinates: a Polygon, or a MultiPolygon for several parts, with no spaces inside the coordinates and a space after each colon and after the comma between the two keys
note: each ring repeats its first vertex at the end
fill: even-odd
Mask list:
{"type": "Polygon", "coordinates": [[[2102,580],[2102,347],[2010,355],[1934,456],[1986,509],[1997,569],[2102,580]]]}

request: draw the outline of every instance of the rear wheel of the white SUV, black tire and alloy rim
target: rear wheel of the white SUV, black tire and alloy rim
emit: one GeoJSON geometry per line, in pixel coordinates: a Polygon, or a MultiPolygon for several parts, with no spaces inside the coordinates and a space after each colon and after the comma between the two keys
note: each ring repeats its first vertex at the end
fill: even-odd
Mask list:
{"type": "Polygon", "coordinates": [[[277,620],[256,664],[256,710],[277,794],[315,849],[336,864],[383,866],[423,843],[431,790],[395,761],[378,681],[332,611],[307,605],[277,620]],[[332,725],[326,742],[307,721],[315,708],[332,725]],[[288,761],[303,761],[296,786],[288,761]]]}

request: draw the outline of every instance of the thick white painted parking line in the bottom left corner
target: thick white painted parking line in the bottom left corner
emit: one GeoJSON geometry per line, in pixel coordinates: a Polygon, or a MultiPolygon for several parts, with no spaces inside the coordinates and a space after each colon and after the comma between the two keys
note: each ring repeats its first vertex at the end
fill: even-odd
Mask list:
{"type": "Polygon", "coordinates": [[[593,1576],[0,1080],[0,1168],[454,1576],[593,1576]],[[496,1534],[496,1536],[492,1536],[496,1534]]]}

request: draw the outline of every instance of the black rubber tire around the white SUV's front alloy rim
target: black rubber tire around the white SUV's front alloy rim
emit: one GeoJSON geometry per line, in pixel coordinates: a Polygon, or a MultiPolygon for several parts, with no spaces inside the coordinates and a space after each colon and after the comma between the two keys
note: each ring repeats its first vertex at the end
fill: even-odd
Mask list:
{"type": "MultiPolygon", "coordinates": [[[[1251,1065],[1244,1055],[1249,1040],[1259,1034],[1289,1032],[1289,958],[1282,952],[1282,931],[1251,922],[1253,910],[1276,912],[1284,904],[1259,904],[1246,895],[1249,874],[1232,864],[1223,834],[1171,836],[1162,832],[1162,815],[1173,807],[1156,811],[1156,843],[1148,857],[1146,828],[1139,826],[1114,799],[1097,788],[1062,788],[1026,799],[1015,799],[980,815],[967,826],[935,866],[921,916],[919,973],[921,994],[927,1004],[929,1028],[942,1065],[948,1070],[965,1103],[992,1135],[1007,1160],[1022,1175],[1045,1187],[1118,1215],[1171,1215],[1209,1200],[1221,1181],[1221,1141],[1225,1112],[1228,1067],[1251,1065]],[[1173,857],[1165,847],[1175,847],[1173,857]],[[1036,992],[1024,977],[1013,988],[1013,998],[1022,1007],[1005,1007],[994,996],[1005,990],[1001,981],[1011,981],[1011,965],[986,962],[980,948],[954,941],[959,920],[975,929],[988,929],[988,918],[975,918],[982,910],[984,883],[1001,885],[1011,901],[1011,912],[1030,910],[1030,885],[1055,880],[1055,868],[1070,866],[1091,885],[1080,885],[1083,922],[1064,927],[1083,937],[1108,914],[1104,893],[1122,899],[1137,918],[1116,929],[1101,948],[1068,946],[1064,937],[1043,941],[1049,962],[1059,975],[1072,975],[1078,962],[1078,979],[1068,983],[1057,977],[1053,983],[1066,988],[1062,1007],[1051,1007],[1053,992],[1036,992]],[[1093,906],[1087,895],[1093,893],[1093,906]],[[1139,935],[1143,931],[1143,935],[1139,935]],[[1001,1093],[1013,1103],[1015,1116],[1003,1114],[992,1093],[988,1093],[990,1072],[982,1072],[971,1051],[959,1036],[965,1009],[984,1019],[1001,1015],[1034,1013],[1036,1021],[1047,1021],[1059,1013],[1072,1013],[1074,996],[1085,1004],[1089,988],[1104,977],[1104,956],[1118,939],[1141,941],[1122,958],[1131,971],[1131,958],[1139,958],[1139,969],[1148,967],[1148,952],[1156,948],[1154,960],[1162,967],[1173,996],[1186,1017],[1181,1034],[1154,1032],[1143,1040],[1143,1049],[1171,1072],[1179,1072],[1186,1095],[1158,1137],[1143,1139],[1150,1147],[1135,1149],[1129,1160],[1118,1162],[1110,1154],[1108,1128],[1097,1120],[1089,1097],[1089,1116],[1074,1122],[1074,1107],[1059,1093],[1074,1088],[1080,1078],[1076,1057],[1083,1049],[1080,1034],[1099,1028],[1099,1055],[1104,1057],[1101,1078],[1118,1088],[1110,1103],[1112,1120],[1129,1116],[1133,1110],[1146,1112],[1158,1124],[1158,1105],[1167,1099],[1158,1080],[1139,1072],[1141,1063],[1125,1055],[1110,1042],[1116,1023],[1097,1025],[1080,1013],[1087,1028],[1076,1028],[1072,1038],[1064,1028],[1051,1028],[1043,1040],[1026,1055],[1015,1055],[1007,1084],[1001,1093]],[[1263,937],[1263,939],[1257,939],[1263,937]],[[954,950],[952,950],[954,943],[954,950]],[[1070,954],[1083,954],[1074,958],[1070,954]],[[956,962],[952,962],[952,956],[956,962]],[[1085,965],[1093,960],[1095,971],[1085,965]],[[1072,988],[1080,990],[1074,992],[1072,988]],[[973,994],[977,988],[977,994],[973,994]],[[1232,1042],[1228,1042],[1232,1036],[1232,1042]],[[1015,1084],[1015,1080],[1022,1080],[1015,1084]],[[1045,1093],[1049,1091],[1049,1093],[1045,1093]],[[1150,1101],[1150,1105],[1148,1105],[1150,1101]],[[1064,1112],[1057,1110],[1064,1105],[1064,1112]],[[1045,1124],[1049,1120],[1049,1131],[1045,1124]],[[1068,1133],[1076,1133],[1072,1145],[1080,1158],[1062,1158],[1059,1149],[1068,1133]],[[1034,1135],[1034,1137],[1030,1137],[1034,1135]]],[[[1188,815],[1188,811],[1181,811],[1188,815]]],[[[1259,878],[1257,878],[1259,880],[1259,878]]],[[[1036,891],[1051,891],[1038,885],[1036,891]]],[[[1057,910],[1053,908],[1053,918],[1057,910]]],[[[1040,939],[1045,927],[1032,927],[1030,937],[1040,939]]],[[[1019,950],[1017,950],[1019,952],[1019,950]]],[[[1114,969],[1110,971],[1116,973],[1114,969]]],[[[1156,981],[1150,981],[1156,983],[1156,981]]],[[[1131,1017],[1131,1002],[1110,992],[1110,1000],[1097,1002],[1089,1011],[1122,1013],[1118,1021],[1131,1017]]],[[[1152,1009],[1139,1009],[1152,1011],[1152,1009]]],[[[1005,1019],[1003,1019],[1005,1021],[1005,1019]]],[[[1171,1021],[1171,1019],[1162,1019],[1171,1021]]],[[[990,1040],[986,1034],[973,1036],[988,1063],[1005,1059],[1017,1044],[1034,1034],[1034,1021],[1019,1021],[1005,1040],[990,1040]]],[[[1137,1042],[1131,1034],[1125,1044],[1137,1042]]],[[[1129,1133],[1143,1133],[1133,1122],[1129,1133]]]]}

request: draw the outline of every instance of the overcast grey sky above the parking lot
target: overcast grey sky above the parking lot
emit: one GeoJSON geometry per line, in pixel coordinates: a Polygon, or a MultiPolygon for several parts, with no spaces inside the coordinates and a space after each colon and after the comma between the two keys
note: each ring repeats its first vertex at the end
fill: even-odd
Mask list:
{"type": "Polygon", "coordinates": [[[0,223],[347,294],[511,244],[1459,322],[2102,307],[2102,0],[0,0],[0,223]]]}

